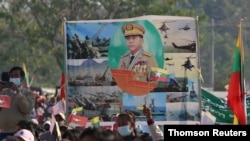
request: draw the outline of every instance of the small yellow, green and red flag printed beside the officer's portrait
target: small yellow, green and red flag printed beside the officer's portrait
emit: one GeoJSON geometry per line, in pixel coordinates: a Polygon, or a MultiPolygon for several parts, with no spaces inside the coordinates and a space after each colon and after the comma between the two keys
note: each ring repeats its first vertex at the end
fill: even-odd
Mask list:
{"type": "Polygon", "coordinates": [[[156,68],[152,67],[151,68],[151,74],[150,74],[150,79],[151,80],[156,80],[156,81],[162,81],[162,82],[167,82],[167,76],[168,76],[168,71],[161,69],[161,68],[156,68]]]}

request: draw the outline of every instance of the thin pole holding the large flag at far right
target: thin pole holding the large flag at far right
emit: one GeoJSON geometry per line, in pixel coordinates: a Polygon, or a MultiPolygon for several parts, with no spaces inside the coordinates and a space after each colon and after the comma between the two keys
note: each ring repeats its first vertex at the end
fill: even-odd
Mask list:
{"type": "Polygon", "coordinates": [[[241,92],[242,92],[242,103],[243,103],[243,107],[244,107],[244,114],[245,114],[245,119],[246,119],[246,124],[247,124],[247,108],[246,108],[246,87],[245,87],[245,71],[244,71],[244,59],[245,59],[245,54],[244,54],[244,44],[243,44],[243,33],[242,33],[242,25],[244,23],[244,19],[241,19],[240,20],[240,36],[241,36],[241,39],[240,39],[240,44],[241,44],[241,47],[240,47],[240,53],[241,53],[241,64],[240,64],[240,67],[241,67],[241,92]]]}

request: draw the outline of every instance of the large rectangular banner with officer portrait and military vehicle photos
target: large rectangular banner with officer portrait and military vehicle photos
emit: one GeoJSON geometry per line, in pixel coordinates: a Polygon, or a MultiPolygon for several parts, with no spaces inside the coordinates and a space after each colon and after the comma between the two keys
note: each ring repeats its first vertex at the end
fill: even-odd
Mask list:
{"type": "Polygon", "coordinates": [[[130,111],[145,121],[146,104],[162,124],[200,121],[194,18],[66,21],[65,29],[67,114],[106,125],[130,111]]]}

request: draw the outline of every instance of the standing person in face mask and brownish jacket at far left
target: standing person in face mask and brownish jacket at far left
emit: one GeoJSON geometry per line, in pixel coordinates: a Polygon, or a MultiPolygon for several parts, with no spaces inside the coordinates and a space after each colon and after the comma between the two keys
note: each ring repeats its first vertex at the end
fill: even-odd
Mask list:
{"type": "Polygon", "coordinates": [[[17,123],[21,120],[29,120],[35,106],[35,94],[22,86],[24,77],[25,73],[21,67],[11,68],[9,82],[12,82],[12,85],[0,91],[1,95],[8,95],[11,98],[10,108],[0,110],[0,140],[13,136],[17,123]]]}

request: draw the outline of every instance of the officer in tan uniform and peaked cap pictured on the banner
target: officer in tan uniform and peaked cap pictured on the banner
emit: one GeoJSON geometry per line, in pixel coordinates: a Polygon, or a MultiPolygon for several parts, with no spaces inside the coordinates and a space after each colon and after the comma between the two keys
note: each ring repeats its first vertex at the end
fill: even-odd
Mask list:
{"type": "Polygon", "coordinates": [[[119,69],[131,70],[134,79],[150,81],[151,67],[158,67],[152,53],[143,49],[145,29],[139,24],[125,24],[122,27],[129,52],[123,55],[119,62],[119,69]]]}

